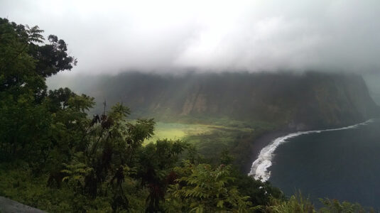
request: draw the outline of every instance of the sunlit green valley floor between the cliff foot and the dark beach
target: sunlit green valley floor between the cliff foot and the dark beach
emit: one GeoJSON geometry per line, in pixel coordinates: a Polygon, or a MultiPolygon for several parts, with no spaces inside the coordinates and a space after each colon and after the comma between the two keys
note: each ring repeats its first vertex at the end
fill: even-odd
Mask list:
{"type": "Polygon", "coordinates": [[[246,122],[208,117],[157,121],[153,138],[144,144],[154,143],[158,139],[179,139],[195,145],[197,151],[213,163],[217,162],[222,151],[229,151],[234,164],[245,171],[252,163],[252,147],[256,138],[276,129],[276,125],[263,121],[246,122]]]}

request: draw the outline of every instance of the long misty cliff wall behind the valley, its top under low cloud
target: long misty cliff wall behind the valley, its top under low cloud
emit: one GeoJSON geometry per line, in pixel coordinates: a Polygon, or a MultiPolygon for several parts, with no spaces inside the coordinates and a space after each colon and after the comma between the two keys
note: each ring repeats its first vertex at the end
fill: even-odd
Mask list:
{"type": "Polygon", "coordinates": [[[99,78],[81,92],[98,102],[123,102],[134,112],[158,119],[229,117],[295,130],[345,126],[379,115],[358,75],[124,73],[99,78]]]}

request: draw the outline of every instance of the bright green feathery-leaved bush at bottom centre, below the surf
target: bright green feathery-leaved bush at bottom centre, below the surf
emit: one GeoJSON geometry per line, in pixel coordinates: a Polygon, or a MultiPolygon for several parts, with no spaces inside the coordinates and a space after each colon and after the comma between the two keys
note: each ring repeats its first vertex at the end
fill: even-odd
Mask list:
{"type": "Polygon", "coordinates": [[[249,212],[251,203],[232,184],[234,178],[230,176],[229,165],[212,168],[207,164],[193,165],[189,161],[184,164],[175,168],[180,178],[170,186],[169,212],[179,208],[182,212],[249,212]],[[175,209],[170,209],[171,205],[175,209]]]}

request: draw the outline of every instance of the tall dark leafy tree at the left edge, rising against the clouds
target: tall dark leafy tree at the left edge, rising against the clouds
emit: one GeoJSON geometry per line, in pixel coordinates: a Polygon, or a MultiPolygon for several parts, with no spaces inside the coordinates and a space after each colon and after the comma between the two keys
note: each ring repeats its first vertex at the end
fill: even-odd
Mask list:
{"type": "Polygon", "coordinates": [[[31,163],[38,163],[35,161],[46,160],[52,148],[50,138],[56,129],[52,126],[54,115],[46,106],[45,77],[70,70],[76,60],[67,55],[65,42],[55,35],[49,36],[50,45],[43,45],[42,32],[38,26],[0,18],[1,160],[28,155],[31,163]],[[43,51],[48,47],[49,51],[43,51]]]}

